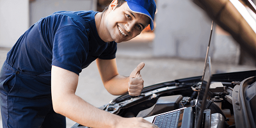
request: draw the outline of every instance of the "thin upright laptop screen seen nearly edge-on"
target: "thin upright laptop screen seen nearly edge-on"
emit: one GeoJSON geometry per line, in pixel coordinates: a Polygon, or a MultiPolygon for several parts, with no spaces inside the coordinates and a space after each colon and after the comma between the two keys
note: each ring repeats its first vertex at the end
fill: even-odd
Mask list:
{"type": "Polygon", "coordinates": [[[211,84],[211,58],[210,56],[207,58],[205,63],[205,72],[204,76],[202,77],[202,84],[201,84],[201,90],[198,95],[198,100],[196,104],[196,117],[195,117],[195,127],[199,128],[202,124],[202,118],[204,114],[205,109],[205,102],[207,99],[207,95],[209,92],[209,86],[211,84]]]}

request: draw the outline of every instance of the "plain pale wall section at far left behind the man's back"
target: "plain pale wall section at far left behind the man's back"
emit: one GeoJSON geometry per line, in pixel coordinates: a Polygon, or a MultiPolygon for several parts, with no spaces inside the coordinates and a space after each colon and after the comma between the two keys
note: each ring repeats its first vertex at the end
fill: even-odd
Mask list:
{"type": "Polygon", "coordinates": [[[12,47],[29,28],[29,0],[0,0],[0,47],[12,47]]]}

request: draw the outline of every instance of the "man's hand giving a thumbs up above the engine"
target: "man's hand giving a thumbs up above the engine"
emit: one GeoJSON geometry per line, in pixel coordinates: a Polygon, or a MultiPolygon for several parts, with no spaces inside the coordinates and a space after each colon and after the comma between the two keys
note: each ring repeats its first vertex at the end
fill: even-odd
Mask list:
{"type": "Polygon", "coordinates": [[[138,96],[143,89],[143,79],[140,74],[140,70],[145,66],[145,63],[141,62],[130,74],[128,92],[129,95],[138,96]]]}

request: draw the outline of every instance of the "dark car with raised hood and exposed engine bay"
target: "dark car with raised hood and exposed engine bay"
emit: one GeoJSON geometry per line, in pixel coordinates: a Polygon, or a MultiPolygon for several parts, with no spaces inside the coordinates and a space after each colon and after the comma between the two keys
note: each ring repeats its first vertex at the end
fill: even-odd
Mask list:
{"type": "MultiPolygon", "coordinates": [[[[194,3],[256,58],[256,8],[252,1],[194,0],[194,3]]],[[[209,47],[210,42],[211,36],[209,47]]],[[[176,127],[185,127],[184,124],[188,127],[256,127],[256,70],[211,74],[211,57],[206,54],[202,71],[202,76],[147,86],[138,97],[126,93],[99,109],[127,118],[153,118],[152,123],[156,123],[157,116],[191,108],[191,123],[179,119],[176,127]],[[202,118],[196,116],[198,108],[202,110],[202,118]]],[[[86,126],[72,126],[77,127],[86,126]]]]}

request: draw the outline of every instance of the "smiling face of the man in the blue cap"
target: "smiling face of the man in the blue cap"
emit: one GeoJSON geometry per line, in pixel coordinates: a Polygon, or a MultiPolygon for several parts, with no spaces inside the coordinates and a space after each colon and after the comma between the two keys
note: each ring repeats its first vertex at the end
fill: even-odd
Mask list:
{"type": "Polygon", "coordinates": [[[116,43],[125,42],[140,35],[150,22],[147,15],[132,12],[126,2],[116,8],[116,0],[109,5],[106,17],[102,20],[104,20],[106,30],[104,36],[108,38],[108,41],[116,43]]]}

